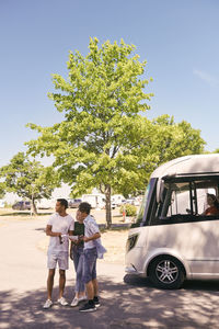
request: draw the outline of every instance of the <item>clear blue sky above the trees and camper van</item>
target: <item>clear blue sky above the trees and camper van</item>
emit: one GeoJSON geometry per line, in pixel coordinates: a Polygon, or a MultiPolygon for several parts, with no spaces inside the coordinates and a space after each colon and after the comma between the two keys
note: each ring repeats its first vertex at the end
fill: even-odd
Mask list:
{"type": "Polygon", "coordinates": [[[0,166],[36,138],[26,123],[61,121],[51,73],[66,76],[69,50],[85,55],[90,36],[124,38],[147,59],[149,118],[185,120],[219,148],[218,16],[218,0],[0,0],[0,166]]]}

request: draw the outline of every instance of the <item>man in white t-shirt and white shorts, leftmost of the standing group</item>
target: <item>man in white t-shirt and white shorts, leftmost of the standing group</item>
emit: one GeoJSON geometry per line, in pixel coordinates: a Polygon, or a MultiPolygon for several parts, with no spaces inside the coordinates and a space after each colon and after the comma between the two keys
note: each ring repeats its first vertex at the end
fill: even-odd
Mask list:
{"type": "Polygon", "coordinates": [[[59,265],[59,298],[58,303],[67,306],[68,303],[64,298],[64,290],[66,284],[66,270],[68,270],[69,260],[69,241],[66,235],[72,235],[74,228],[73,218],[67,214],[68,202],[65,198],[58,198],[56,202],[56,213],[49,218],[46,226],[46,235],[50,237],[47,252],[47,300],[44,308],[53,305],[51,293],[54,287],[54,276],[56,265],[59,265]]]}

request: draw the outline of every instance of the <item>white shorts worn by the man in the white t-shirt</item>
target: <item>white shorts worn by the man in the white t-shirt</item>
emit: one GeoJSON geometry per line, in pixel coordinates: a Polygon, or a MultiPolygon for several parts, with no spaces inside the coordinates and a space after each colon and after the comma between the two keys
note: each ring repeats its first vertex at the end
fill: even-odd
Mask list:
{"type": "Polygon", "coordinates": [[[69,257],[68,251],[54,251],[47,253],[47,268],[50,270],[56,269],[56,265],[60,270],[68,270],[69,268],[69,257]]]}

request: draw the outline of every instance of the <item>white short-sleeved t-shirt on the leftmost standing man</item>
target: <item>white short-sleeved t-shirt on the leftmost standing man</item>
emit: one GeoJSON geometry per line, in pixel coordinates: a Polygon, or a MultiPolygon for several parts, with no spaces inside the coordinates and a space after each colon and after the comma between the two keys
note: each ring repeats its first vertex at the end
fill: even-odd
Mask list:
{"type": "MultiPolygon", "coordinates": [[[[67,215],[65,217],[60,216],[58,213],[51,215],[48,219],[47,225],[51,226],[51,231],[61,232],[62,235],[68,235],[68,230],[74,229],[74,220],[73,217],[67,215]]],[[[50,237],[48,252],[53,251],[66,251],[69,250],[68,239],[65,239],[64,243],[60,243],[59,237],[50,237]]]]}

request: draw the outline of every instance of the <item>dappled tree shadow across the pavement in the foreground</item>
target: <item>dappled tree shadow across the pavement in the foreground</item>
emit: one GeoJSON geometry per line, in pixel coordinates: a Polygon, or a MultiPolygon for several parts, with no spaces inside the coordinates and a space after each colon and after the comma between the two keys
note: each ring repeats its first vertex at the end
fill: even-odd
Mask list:
{"type": "MultiPolygon", "coordinates": [[[[218,328],[218,282],[193,281],[178,291],[161,291],[153,288],[148,280],[136,276],[126,275],[125,283],[101,276],[100,291],[102,305],[90,314],[56,304],[43,310],[43,290],[23,295],[14,291],[0,292],[0,328],[218,328]]],[[[57,293],[55,288],[54,297],[57,293]]],[[[72,295],[72,288],[67,286],[69,302],[72,295]]]]}

